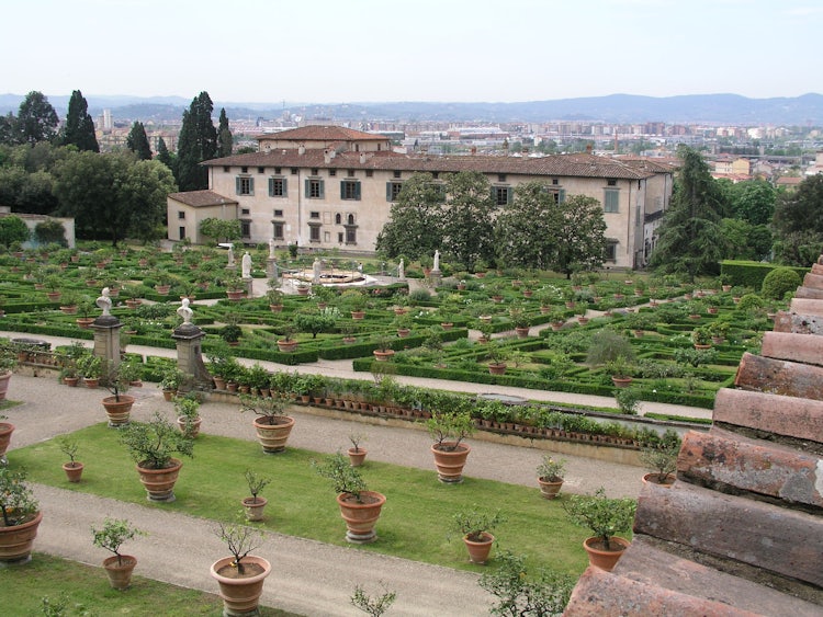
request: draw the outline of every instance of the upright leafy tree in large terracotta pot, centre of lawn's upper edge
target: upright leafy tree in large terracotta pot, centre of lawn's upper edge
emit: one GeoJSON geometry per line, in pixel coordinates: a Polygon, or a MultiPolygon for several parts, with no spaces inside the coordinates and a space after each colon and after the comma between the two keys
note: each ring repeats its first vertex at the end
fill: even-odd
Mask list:
{"type": "Polygon", "coordinates": [[[463,439],[475,431],[469,409],[432,412],[427,429],[435,441],[431,453],[435,455],[438,480],[447,484],[462,482],[463,467],[472,449],[463,439]]]}

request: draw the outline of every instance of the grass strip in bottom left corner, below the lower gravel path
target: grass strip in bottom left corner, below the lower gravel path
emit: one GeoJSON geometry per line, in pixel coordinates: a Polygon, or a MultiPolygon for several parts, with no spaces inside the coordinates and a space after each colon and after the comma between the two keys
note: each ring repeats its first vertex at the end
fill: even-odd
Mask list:
{"type": "MultiPolygon", "coordinates": [[[[143,576],[133,576],[132,587],[119,592],[109,585],[102,568],[35,552],[25,565],[0,568],[4,615],[158,615],[166,617],[223,615],[223,601],[213,594],[185,590],[143,576]],[[44,599],[46,598],[46,599],[44,599]],[[64,607],[64,612],[46,613],[64,607]]],[[[295,617],[260,607],[262,617],[295,617]]]]}

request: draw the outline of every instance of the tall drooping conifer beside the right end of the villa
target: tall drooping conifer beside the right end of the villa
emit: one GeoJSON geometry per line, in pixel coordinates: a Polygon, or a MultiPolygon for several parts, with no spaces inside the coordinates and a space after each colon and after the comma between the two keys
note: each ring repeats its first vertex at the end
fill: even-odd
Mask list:
{"type": "Polygon", "coordinates": [[[658,228],[657,244],[650,265],[667,273],[680,273],[694,281],[701,274],[717,274],[723,254],[720,220],[723,196],[700,153],[681,147],[683,161],[675,180],[668,210],[658,228]]]}

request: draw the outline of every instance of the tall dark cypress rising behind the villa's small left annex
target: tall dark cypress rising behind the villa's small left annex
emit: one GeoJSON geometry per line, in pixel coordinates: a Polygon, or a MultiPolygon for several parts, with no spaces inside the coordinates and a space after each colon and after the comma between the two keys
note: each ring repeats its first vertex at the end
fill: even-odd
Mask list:
{"type": "Polygon", "coordinates": [[[180,191],[208,188],[208,171],[200,163],[217,156],[217,129],[212,122],[214,105],[201,92],[183,112],[178,138],[177,183],[180,191]]]}

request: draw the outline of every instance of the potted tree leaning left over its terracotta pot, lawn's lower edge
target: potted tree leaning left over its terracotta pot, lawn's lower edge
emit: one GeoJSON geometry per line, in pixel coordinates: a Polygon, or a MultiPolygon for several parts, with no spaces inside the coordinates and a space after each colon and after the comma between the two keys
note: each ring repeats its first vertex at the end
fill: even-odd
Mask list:
{"type": "Polygon", "coordinates": [[[352,544],[376,540],[374,525],[386,502],[385,495],[367,490],[359,468],[352,467],[339,452],[323,462],[312,461],[312,465],[320,477],[331,480],[340,516],[346,521],[346,540],[352,544]]]}

